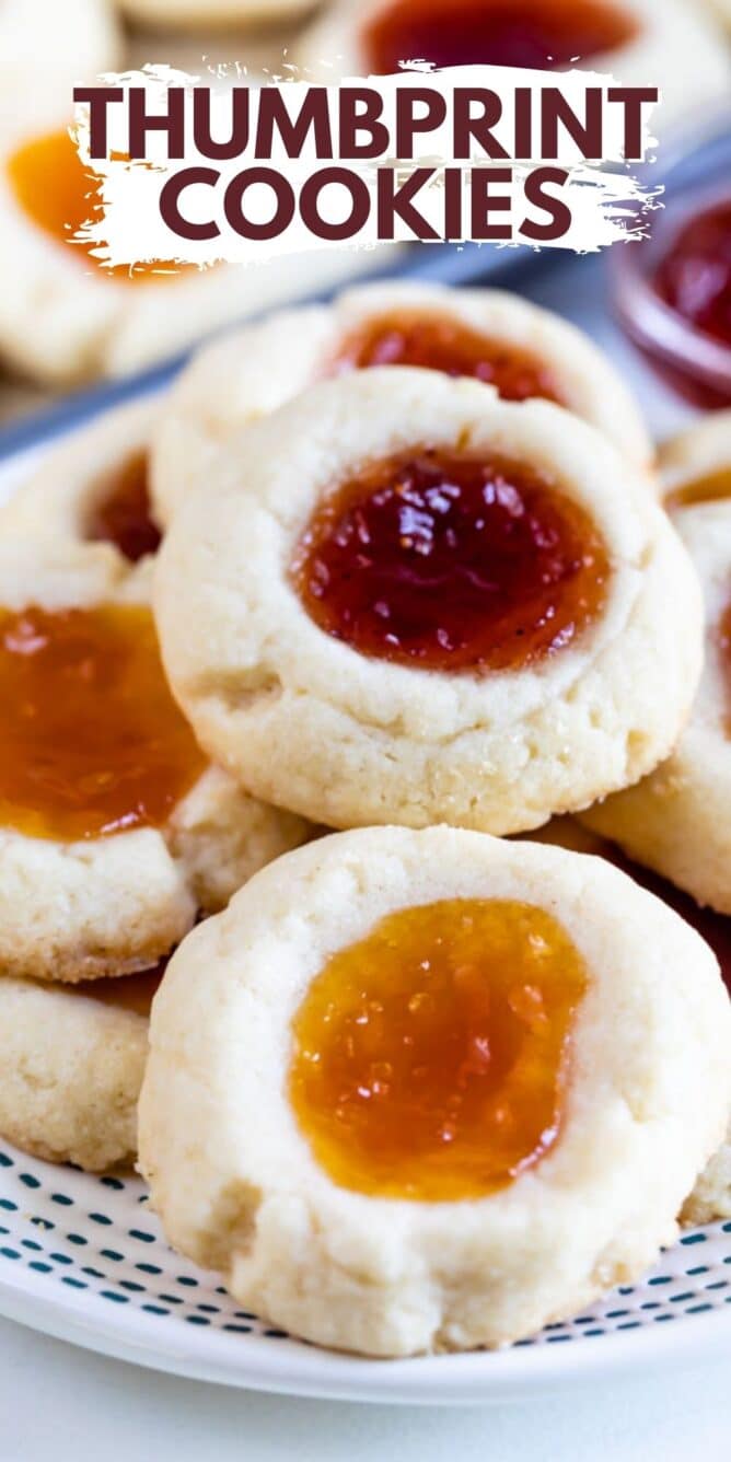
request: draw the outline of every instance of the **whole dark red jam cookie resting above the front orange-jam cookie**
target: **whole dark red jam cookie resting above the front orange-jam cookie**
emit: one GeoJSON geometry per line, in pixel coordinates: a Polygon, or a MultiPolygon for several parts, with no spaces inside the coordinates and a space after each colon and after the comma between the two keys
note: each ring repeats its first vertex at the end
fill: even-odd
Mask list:
{"type": "Polygon", "coordinates": [[[551,402],[396,366],[228,443],[155,613],[209,756],[333,827],[586,807],[668,754],[700,673],[696,579],[643,474],[551,402]]]}

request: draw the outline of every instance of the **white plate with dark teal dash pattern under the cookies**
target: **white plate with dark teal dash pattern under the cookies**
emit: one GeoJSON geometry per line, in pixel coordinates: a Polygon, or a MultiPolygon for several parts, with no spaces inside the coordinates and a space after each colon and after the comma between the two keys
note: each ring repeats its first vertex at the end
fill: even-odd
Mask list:
{"type": "Polygon", "coordinates": [[[731,1349],[731,1222],[684,1232],[642,1284],[503,1351],[373,1361],[241,1310],[165,1243],[133,1177],[91,1177],[0,1143],[0,1313],[202,1380],[360,1401],[499,1399],[576,1373],[731,1349]]]}

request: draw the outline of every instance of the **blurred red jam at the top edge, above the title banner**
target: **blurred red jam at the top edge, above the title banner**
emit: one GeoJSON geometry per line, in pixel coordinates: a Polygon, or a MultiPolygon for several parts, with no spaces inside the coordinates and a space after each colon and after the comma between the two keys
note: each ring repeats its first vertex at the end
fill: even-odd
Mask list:
{"type": "Polygon", "coordinates": [[[390,0],[363,31],[368,70],[434,66],[585,64],[636,39],[637,22],[607,0],[390,0]]]}

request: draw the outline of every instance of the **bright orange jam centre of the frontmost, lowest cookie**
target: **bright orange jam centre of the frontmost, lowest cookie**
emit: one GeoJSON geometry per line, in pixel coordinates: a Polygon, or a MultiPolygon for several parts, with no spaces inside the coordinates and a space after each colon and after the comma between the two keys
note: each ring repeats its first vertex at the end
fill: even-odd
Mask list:
{"type": "Polygon", "coordinates": [[[446,899],[390,914],[311,982],[289,1099],[339,1187],[459,1200],[556,1143],[586,968],[545,909],[446,899]]]}

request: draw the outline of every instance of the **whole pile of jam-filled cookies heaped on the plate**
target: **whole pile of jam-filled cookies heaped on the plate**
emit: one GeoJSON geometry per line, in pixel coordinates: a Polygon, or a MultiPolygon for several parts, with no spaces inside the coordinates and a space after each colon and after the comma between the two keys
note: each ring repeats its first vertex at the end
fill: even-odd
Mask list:
{"type": "Polygon", "coordinates": [[[725,1212],[730,462],[719,418],[664,488],[577,330],[405,284],[47,459],[0,542],[0,1130],[129,1161],[142,1080],[171,1243],[373,1355],[725,1212]]]}

